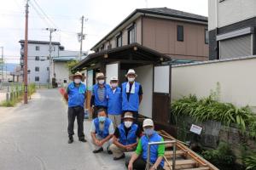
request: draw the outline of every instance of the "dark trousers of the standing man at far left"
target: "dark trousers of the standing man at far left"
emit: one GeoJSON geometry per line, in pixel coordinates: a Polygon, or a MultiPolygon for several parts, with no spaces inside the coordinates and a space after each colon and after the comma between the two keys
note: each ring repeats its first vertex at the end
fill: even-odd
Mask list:
{"type": "Polygon", "coordinates": [[[79,139],[84,139],[84,108],[81,106],[68,107],[67,118],[68,127],[67,133],[69,138],[73,138],[73,124],[77,117],[78,122],[78,136],[79,139]]]}

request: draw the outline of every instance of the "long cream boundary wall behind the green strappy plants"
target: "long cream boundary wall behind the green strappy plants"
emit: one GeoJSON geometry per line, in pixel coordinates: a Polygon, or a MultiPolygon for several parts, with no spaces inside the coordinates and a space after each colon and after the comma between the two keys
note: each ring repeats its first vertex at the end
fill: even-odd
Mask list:
{"type": "MultiPolygon", "coordinates": [[[[255,56],[256,57],[256,56],[255,56]]],[[[256,111],[256,58],[172,67],[172,100],[209,96],[220,85],[220,100],[256,111]]]]}

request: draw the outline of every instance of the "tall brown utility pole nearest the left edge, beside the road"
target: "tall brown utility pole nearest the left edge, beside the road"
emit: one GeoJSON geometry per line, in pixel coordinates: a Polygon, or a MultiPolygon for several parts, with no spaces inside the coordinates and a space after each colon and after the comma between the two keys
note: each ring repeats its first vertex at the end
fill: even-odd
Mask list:
{"type": "Polygon", "coordinates": [[[27,34],[28,34],[28,1],[26,0],[26,23],[25,23],[25,44],[24,44],[24,104],[27,104],[27,34]]]}

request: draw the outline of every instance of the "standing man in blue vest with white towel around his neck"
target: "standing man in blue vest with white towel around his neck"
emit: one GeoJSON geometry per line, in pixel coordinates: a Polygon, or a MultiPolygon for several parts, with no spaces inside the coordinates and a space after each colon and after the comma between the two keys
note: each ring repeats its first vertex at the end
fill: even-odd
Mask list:
{"type": "Polygon", "coordinates": [[[128,82],[122,84],[122,110],[131,111],[136,119],[141,101],[143,100],[143,88],[138,82],[135,82],[137,74],[133,69],[130,69],[125,75],[128,82]]]}

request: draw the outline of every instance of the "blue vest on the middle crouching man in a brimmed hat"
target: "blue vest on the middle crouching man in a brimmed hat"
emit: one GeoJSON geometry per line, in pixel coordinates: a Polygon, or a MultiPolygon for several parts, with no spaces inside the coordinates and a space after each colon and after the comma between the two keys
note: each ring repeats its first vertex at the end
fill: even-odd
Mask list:
{"type": "Polygon", "coordinates": [[[125,124],[121,123],[119,124],[119,143],[128,145],[128,144],[134,144],[137,142],[137,124],[133,123],[131,125],[131,129],[127,134],[127,137],[125,135],[125,124]]]}

